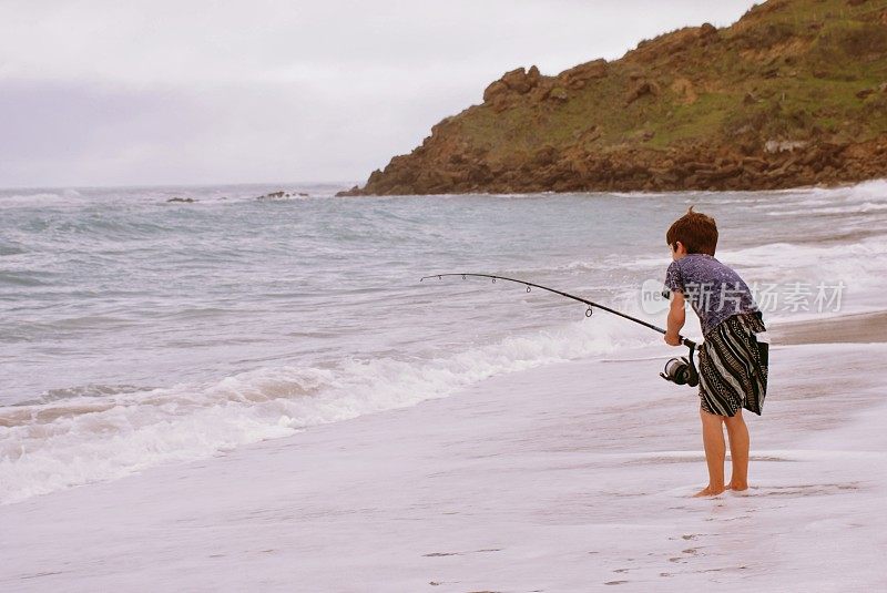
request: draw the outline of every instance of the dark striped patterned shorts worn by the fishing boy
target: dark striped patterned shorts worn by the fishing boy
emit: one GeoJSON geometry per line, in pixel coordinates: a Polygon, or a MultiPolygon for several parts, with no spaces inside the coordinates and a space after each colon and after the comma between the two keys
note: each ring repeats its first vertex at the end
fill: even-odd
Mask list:
{"type": "Polygon", "coordinates": [[[745,408],[761,416],[767,393],[769,346],[755,334],[766,331],[761,311],[727,317],[700,346],[700,400],[702,409],[717,416],[735,416],[745,408]]]}

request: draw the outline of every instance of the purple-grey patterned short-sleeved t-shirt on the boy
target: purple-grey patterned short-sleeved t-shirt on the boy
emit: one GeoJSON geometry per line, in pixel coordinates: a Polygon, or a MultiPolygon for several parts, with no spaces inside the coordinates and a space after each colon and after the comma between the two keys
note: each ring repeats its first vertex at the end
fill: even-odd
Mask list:
{"type": "Polygon", "coordinates": [[[758,310],[740,275],[707,254],[687,254],[672,262],[665,270],[665,287],[684,294],[700,316],[703,336],[727,317],[758,310]]]}

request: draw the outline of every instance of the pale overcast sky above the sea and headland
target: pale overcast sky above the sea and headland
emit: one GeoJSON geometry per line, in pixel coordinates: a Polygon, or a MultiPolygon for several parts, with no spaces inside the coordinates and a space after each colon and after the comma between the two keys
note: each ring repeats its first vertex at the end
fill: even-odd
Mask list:
{"type": "Polygon", "coordinates": [[[0,0],[0,186],[355,181],[480,103],[748,0],[0,0]]]}

